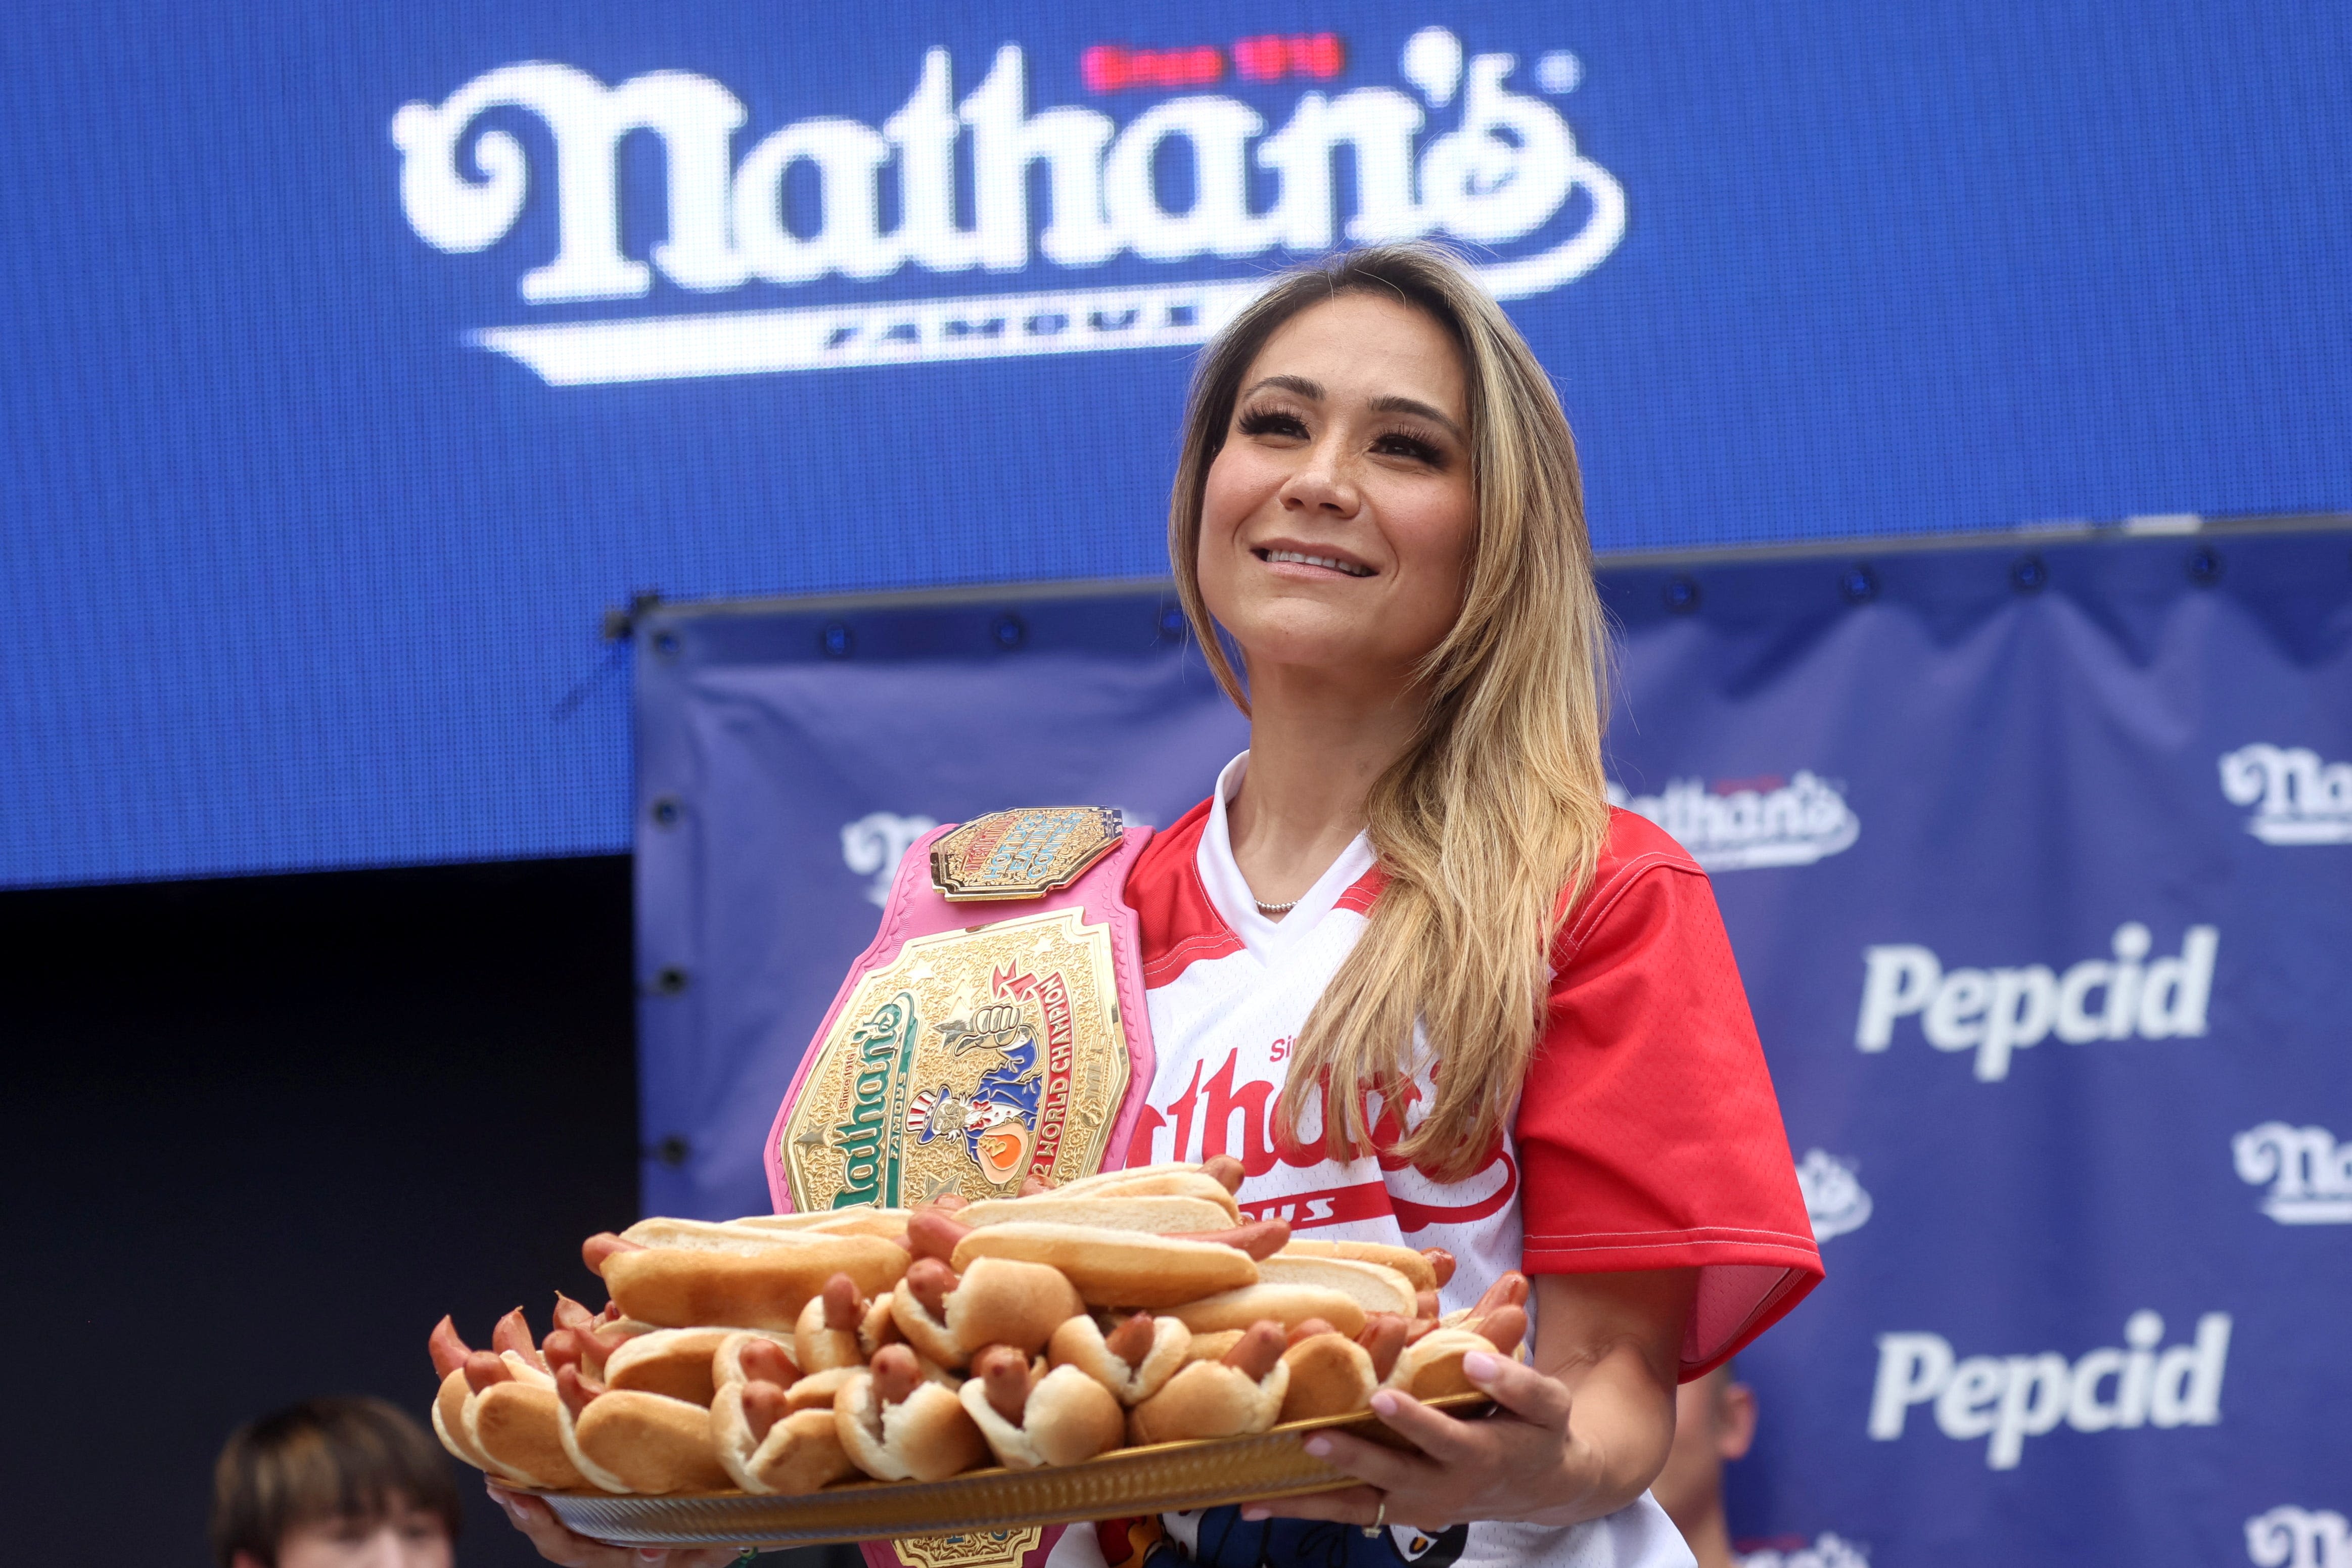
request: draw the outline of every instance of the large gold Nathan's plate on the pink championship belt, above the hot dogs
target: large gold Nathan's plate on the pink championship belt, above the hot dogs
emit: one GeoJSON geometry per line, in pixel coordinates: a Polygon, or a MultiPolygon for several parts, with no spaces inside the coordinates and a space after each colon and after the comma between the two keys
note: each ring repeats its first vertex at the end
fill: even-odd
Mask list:
{"type": "Polygon", "coordinates": [[[814,1051],[776,1150],[793,1208],[1089,1175],[1127,1095],[1110,929],[1049,910],[913,938],[814,1051]]]}

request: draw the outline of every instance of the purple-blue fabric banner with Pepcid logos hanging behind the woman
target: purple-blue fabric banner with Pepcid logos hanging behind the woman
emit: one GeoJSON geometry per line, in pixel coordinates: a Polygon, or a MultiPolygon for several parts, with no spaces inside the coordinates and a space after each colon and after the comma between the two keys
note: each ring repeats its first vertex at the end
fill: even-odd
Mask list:
{"type": "MultiPolygon", "coordinates": [[[[1618,804],[1715,877],[1828,1284],[1755,1568],[2352,1554],[2352,531],[1661,559],[1618,804]]],[[[647,1206],[757,1145],[931,820],[1164,823],[1244,743],[1152,590],[656,611],[647,1206]]]]}

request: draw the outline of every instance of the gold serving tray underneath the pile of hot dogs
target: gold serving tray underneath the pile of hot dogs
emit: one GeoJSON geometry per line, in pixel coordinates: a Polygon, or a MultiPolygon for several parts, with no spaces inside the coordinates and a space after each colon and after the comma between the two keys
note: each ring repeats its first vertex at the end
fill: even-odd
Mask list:
{"type": "MultiPolygon", "coordinates": [[[[1432,1410],[1482,1415],[1484,1394],[1449,1394],[1432,1410]]],[[[564,1528],[623,1547],[816,1547],[842,1540],[1002,1533],[1025,1526],[1176,1514],[1296,1497],[1352,1476],[1310,1458],[1305,1434],[1336,1427],[1399,1446],[1376,1415],[1298,1420],[1258,1436],[1115,1448],[1084,1465],[967,1469],[948,1481],[849,1481],[802,1497],[760,1493],[539,1493],[564,1528]]]]}

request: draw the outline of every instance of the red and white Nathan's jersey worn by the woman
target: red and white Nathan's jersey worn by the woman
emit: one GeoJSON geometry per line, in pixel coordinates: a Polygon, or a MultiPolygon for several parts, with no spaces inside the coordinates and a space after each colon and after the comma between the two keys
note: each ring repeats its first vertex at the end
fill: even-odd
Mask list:
{"type": "MultiPolygon", "coordinates": [[[[1526,1081],[1496,1084],[1519,1095],[1517,1114],[1472,1175],[1444,1182],[1378,1154],[1334,1161],[1312,1117],[1296,1143],[1277,1147],[1272,1112],[1291,1044],[1362,936],[1383,875],[1371,842],[1357,837],[1296,907],[1265,919],[1225,827],[1225,799],[1247,762],[1237,757],[1216,795],[1160,832],[1127,877],[1155,1072],[1122,1164],[1232,1154],[1247,1171],[1237,1197],[1254,1218],[1287,1218],[1308,1237],[1442,1246],[1458,1260],[1449,1309],[1475,1302],[1505,1269],[1698,1267],[1686,1378],[1731,1356],[1820,1279],[1705,872],[1625,811],[1611,813],[1592,886],[1557,940],[1550,1023],[1526,1081]]],[[[1378,1145],[1428,1114],[1437,1072],[1442,1063],[1416,1039],[1399,1103],[1371,1100],[1378,1145]]],[[[1188,1540],[1204,1521],[1225,1526],[1164,1519],[1188,1554],[1230,1559],[1228,1547],[1188,1540]]],[[[1054,1568],[1103,1561],[1094,1535],[1068,1530],[1054,1568]]],[[[1571,1530],[1479,1523],[1446,1547],[1463,1563],[1691,1561],[1649,1497],[1571,1530]]]]}

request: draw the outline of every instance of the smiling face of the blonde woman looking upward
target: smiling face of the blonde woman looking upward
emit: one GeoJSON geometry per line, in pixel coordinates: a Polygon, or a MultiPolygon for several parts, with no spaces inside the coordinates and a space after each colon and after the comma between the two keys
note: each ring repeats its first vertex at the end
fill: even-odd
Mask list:
{"type": "Polygon", "coordinates": [[[1461,350],[1341,294],[1265,339],[1202,489],[1200,590],[1256,679],[1402,686],[1461,614],[1477,496],[1461,350]]]}

